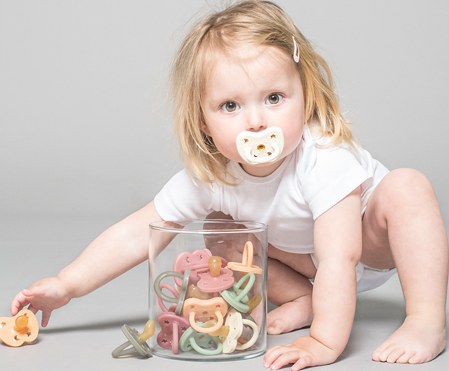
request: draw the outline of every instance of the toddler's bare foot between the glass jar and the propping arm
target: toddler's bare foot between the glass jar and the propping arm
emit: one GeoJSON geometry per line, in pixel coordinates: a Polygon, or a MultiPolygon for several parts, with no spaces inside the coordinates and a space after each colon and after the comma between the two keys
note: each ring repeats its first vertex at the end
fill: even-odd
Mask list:
{"type": "Polygon", "coordinates": [[[312,323],[312,296],[306,295],[282,304],[273,309],[267,316],[267,332],[278,335],[312,323]]]}

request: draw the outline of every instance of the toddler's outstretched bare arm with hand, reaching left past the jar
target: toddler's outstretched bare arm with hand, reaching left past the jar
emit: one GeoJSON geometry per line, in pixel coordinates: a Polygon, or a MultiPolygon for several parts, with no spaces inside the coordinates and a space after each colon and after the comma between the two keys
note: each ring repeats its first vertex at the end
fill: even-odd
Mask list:
{"type": "Polygon", "coordinates": [[[72,263],[55,277],[44,278],[16,295],[15,315],[29,304],[42,311],[45,327],[51,312],[72,298],[97,289],[148,258],[148,224],[161,220],[153,202],[111,226],[92,241],[72,263]]]}

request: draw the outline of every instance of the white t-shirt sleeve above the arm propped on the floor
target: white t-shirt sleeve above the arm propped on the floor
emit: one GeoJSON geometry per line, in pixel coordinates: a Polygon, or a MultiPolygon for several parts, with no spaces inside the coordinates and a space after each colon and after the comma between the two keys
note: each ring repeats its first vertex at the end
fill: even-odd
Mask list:
{"type": "Polygon", "coordinates": [[[371,175],[349,149],[315,148],[299,182],[315,220],[337,204],[371,175]]]}

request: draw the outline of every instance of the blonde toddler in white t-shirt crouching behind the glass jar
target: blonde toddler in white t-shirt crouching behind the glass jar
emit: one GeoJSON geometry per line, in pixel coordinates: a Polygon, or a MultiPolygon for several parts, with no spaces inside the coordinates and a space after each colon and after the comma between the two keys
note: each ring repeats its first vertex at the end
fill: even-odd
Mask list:
{"type": "Polygon", "coordinates": [[[357,291],[396,271],[405,321],[373,360],[422,363],[444,350],[448,245],[432,187],[355,143],[326,62],[279,6],[241,1],[204,17],[181,44],[172,85],[186,169],[55,277],[18,293],[13,315],[28,305],[46,326],[54,309],[145,261],[150,222],[221,213],[268,225],[268,298],[277,305],[268,332],[310,326],[269,349],[266,367],[334,362],[357,291]]]}

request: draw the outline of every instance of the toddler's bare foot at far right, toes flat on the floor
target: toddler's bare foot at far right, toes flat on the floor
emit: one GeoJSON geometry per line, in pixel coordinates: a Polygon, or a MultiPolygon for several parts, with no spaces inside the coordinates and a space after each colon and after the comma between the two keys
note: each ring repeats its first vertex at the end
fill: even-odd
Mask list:
{"type": "Polygon", "coordinates": [[[388,363],[424,363],[437,357],[446,346],[446,329],[441,323],[409,316],[388,337],[372,358],[388,363]]]}

